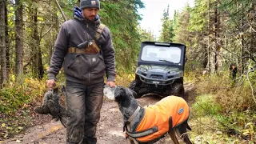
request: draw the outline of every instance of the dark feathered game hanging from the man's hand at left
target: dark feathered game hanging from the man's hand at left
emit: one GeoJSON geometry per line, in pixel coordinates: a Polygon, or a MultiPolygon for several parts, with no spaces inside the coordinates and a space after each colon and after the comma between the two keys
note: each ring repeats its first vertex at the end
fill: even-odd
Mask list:
{"type": "MultiPolygon", "coordinates": [[[[66,95],[64,86],[62,86],[61,90],[62,94],[66,95]]],[[[60,120],[62,125],[66,127],[68,116],[66,114],[66,109],[61,106],[59,99],[60,94],[58,94],[58,88],[48,90],[42,99],[42,106],[35,107],[34,111],[38,114],[50,114],[54,120],[60,120]]]]}

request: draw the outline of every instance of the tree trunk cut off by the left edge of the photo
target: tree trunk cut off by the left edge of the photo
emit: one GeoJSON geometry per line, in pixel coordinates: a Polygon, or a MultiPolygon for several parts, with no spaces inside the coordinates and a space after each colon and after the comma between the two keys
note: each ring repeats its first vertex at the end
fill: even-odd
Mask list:
{"type": "Polygon", "coordinates": [[[0,0],[0,51],[1,51],[1,79],[0,87],[6,82],[6,1],[0,0]]]}

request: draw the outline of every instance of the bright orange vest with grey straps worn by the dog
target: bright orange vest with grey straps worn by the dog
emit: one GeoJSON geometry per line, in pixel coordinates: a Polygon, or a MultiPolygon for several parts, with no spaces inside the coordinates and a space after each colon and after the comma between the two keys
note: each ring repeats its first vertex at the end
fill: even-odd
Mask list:
{"type": "Polygon", "coordinates": [[[162,98],[155,105],[144,106],[144,109],[145,115],[135,132],[126,130],[126,136],[134,138],[137,142],[150,142],[161,138],[169,131],[170,118],[172,118],[171,127],[175,127],[189,117],[189,106],[186,101],[176,96],[162,98]]]}

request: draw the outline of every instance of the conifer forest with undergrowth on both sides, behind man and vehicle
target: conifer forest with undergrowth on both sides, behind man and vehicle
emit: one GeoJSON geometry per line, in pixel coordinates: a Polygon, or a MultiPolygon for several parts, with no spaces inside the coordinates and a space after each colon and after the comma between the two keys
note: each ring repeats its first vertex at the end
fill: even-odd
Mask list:
{"type": "MultiPolygon", "coordinates": [[[[59,5],[70,19],[79,0],[59,5]]],[[[256,142],[256,2],[195,0],[172,18],[169,6],[163,7],[159,38],[139,26],[143,7],[141,0],[101,1],[99,16],[111,31],[118,80],[134,78],[141,42],[186,44],[185,82],[196,87],[192,117],[201,123],[191,134],[194,141],[256,142]],[[238,70],[236,78],[230,78],[230,65],[238,70]]],[[[0,0],[0,142],[29,126],[26,116],[46,91],[46,70],[64,21],[55,1],[0,0]],[[20,116],[26,121],[18,122],[20,116]]],[[[63,79],[61,71],[58,83],[63,79]]]]}

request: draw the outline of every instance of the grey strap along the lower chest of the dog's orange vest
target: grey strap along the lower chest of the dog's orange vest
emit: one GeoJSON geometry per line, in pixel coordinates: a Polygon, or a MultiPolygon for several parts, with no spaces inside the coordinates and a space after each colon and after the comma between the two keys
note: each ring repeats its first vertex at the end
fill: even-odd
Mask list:
{"type": "Polygon", "coordinates": [[[145,137],[147,135],[153,134],[157,131],[158,131],[158,126],[154,126],[150,129],[143,130],[143,131],[137,131],[137,132],[129,132],[128,130],[126,130],[126,134],[132,138],[141,138],[141,137],[145,137]]]}

